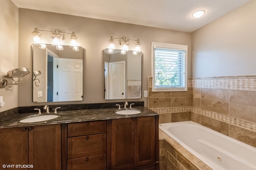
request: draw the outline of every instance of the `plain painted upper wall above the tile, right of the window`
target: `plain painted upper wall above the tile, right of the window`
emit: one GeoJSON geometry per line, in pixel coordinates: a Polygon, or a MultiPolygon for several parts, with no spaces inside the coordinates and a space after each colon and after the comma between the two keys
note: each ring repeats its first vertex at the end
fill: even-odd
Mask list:
{"type": "Polygon", "coordinates": [[[256,0],[192,33],[192,77],[256,75],[256,0]]]}

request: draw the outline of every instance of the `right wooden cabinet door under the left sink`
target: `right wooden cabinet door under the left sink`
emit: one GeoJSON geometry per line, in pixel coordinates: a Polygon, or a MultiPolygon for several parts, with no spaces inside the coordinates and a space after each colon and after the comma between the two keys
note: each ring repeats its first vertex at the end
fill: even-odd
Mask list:
{"type": "Polygon", "coordinates": [[[28,127],[28,164],[35,170],[61,169],[61,125],[28,127]]]}

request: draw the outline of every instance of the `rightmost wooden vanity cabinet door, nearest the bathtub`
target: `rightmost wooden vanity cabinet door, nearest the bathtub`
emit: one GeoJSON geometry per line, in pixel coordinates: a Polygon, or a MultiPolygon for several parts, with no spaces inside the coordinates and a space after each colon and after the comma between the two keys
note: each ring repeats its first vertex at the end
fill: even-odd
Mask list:
{"type": "Polygon", "coordinates": [[[155,117],[135,118],[134,166],[155,162],[155,117]]]}

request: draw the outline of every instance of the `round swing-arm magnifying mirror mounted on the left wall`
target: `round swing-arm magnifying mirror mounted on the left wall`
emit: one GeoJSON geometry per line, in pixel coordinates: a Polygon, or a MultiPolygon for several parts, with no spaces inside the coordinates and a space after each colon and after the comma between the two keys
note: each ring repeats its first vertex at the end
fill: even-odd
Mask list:
{"type": "Polygon", "coordinates": [[[19,81],[21,81],[25,75],[27,75],[29,73],[28,68],[18,68],[18,69],[13,69],[7,72],[8,77],[11,77],[12,80],[14,81],[14,84],[10,84],[8,83],[8,81],[6,79],[0,79],[0,87],[4,88],[6,87],[6,85],[22,85],[22,83],[18,83],[19,81]],[[20,80],[16,81],[13,78],[15,77],[22,77],[20,80]]]}

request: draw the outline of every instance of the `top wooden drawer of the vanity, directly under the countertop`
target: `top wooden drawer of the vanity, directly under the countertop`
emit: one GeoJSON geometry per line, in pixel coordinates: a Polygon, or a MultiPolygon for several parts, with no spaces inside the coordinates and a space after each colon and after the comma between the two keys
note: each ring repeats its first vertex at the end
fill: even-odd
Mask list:
{"type": "Polygon", "coordinates": [[[68,124],[68,137],[106,133],[106,121],[68,124]]]}

